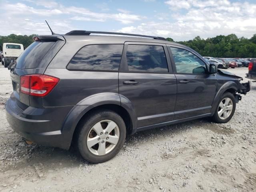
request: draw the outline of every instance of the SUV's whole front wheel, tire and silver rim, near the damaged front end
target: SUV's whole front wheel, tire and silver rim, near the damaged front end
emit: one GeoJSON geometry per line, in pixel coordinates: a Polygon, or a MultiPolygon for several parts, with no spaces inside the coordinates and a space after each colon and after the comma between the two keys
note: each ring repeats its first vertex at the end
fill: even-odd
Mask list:
{"type": "Polygon", "coordinates": [[[236,99],[230,92],[225,92],[218,102],[218,106],[213,115],[213,120],[216,123],[228,122],[236,110],[236,99]]]}

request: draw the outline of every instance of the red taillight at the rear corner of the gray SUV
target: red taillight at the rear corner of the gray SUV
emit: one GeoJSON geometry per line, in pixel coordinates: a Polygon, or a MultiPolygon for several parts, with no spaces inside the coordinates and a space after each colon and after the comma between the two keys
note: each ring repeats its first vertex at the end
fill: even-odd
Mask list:
{"type": "Polygon", "coordinates": [[[20,77],[20,92],[43,97],[49,94],[59,81],[59,78],[48,75],[24,75],[20,77]]]}

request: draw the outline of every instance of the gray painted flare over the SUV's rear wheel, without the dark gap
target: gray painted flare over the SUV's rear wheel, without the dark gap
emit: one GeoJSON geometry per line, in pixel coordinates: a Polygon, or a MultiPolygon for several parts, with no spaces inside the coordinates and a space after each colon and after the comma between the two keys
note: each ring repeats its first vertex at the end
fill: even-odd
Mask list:
{"type": "Polygon", "coordinates": [[[92,108],[104,104],[115,104],[122,106],[130,115],[132,121],[132,129],[136,128],[137,117],[135,114],[134,106],[132,105],[132,102],[130,102],[127,98],[121,98],[122,99],[120,99],[119,94],[116,93],[102,93],[89,96],[78,102],[78,104],[73,106],[73,108],[70,110],[62,124],[62,134],[69,136],[69,140],[66,142],[71,144],[74,130],[76,129],[80,119],[92,108]],[[121,101],[123,102],[122,105],[121,101]]]}

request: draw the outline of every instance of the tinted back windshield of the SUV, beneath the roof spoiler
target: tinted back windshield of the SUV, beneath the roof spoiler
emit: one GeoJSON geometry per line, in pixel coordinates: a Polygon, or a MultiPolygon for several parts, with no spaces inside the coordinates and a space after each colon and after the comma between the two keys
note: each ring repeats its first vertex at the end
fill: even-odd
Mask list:
{"type": "Polygon", "coordinates": [[[35,41],[16,60],[15,67],[18,69],[37,68],[42,58],[50,50],[55,42],[35,41]]]}

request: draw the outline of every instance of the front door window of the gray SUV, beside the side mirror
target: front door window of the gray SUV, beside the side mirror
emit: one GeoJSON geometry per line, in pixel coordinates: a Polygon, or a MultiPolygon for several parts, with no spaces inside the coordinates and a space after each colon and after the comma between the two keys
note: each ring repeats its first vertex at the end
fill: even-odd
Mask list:
{"type": "Polygon", "coordinates": [[[177,73],[205,74],[205,63],[189,51],[170,47],[177,73]],[[184,59],[186,58],[186,60],[184,59]]]}

